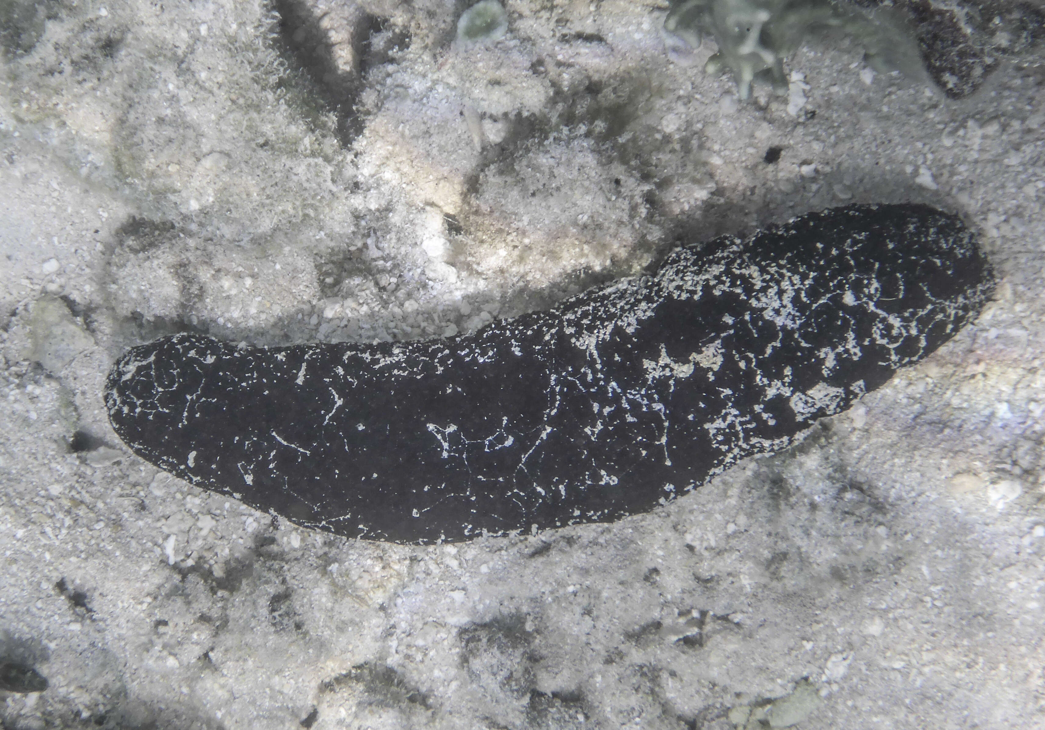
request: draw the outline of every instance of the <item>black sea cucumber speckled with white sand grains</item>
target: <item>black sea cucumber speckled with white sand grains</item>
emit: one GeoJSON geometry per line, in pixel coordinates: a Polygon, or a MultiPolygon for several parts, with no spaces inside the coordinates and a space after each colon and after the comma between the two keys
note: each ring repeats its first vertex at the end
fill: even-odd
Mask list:
{"type": "Polygon", "coordinates": [[[776,451],[974,316],[961,221],[851,206],[672,253],[549,311],[414,343],[237,348],[177,334],[113,368],[142,458],[259,510],[395,542],[646,512],[776,451]]]}

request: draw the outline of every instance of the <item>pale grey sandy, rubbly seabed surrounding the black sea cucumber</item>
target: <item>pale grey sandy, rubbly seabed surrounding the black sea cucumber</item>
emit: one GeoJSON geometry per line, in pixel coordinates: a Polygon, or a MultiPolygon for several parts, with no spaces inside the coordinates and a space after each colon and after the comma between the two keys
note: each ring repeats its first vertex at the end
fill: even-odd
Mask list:
{"type": "Polygon", "coordinates": [[[434,0],[0,8],[3,727],[1045,727],[1045,70],[1028,6],[952,5],[920,21],[968,37],[923,43],[931,75],[831,31],[750,101],[656,2],[509,2],[471,47],[434,0]],[[104,413],[160,334],[450,336],[677,241],[904,201],[977,232],[995,301],[618,523],[312,533],[104,413]]]}

